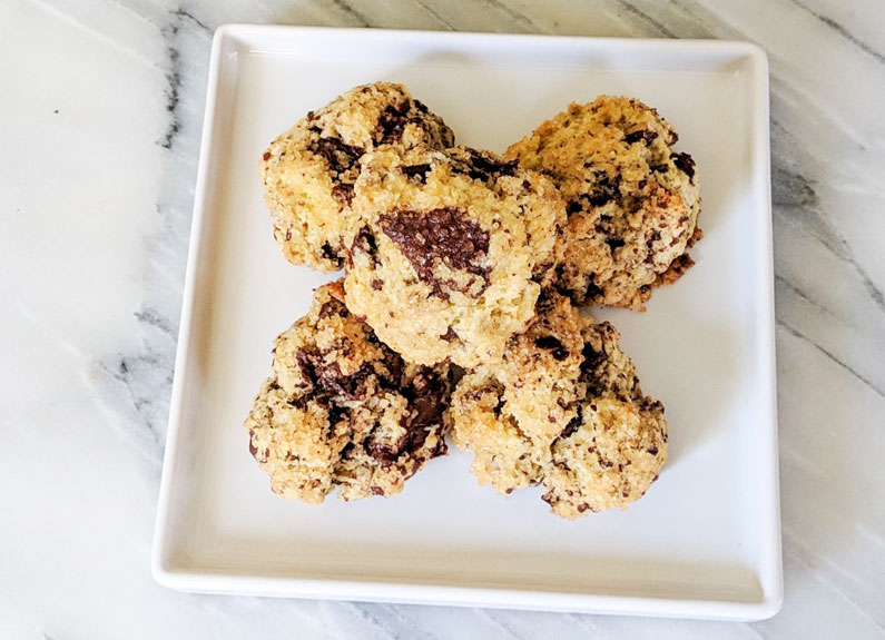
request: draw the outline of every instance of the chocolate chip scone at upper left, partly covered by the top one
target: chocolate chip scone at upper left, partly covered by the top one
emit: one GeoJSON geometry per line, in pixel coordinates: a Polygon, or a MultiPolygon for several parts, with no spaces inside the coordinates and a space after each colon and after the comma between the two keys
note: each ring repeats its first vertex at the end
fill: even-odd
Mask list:
{"type": "Polygon", "coordinates": [[[405,87],[356,87],[311,111],[260,161],[274,237],[291,263],[340,269],[360,228],[351,208],[360,158],[378,145],[446,148],[452,130],[405,87]]]}

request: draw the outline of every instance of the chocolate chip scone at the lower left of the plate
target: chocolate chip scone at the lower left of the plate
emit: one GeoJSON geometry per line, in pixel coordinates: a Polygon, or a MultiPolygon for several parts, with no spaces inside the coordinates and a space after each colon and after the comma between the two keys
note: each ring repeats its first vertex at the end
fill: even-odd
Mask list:
{"type": "Polygon", "coordinates": [[[277,337],[245,422],[273,491],[314,504],[335,486],[343,500],[394,495],[446,452],[449,371],[404,363],[343,301],[340,282],[319,287],[277,337]]]}

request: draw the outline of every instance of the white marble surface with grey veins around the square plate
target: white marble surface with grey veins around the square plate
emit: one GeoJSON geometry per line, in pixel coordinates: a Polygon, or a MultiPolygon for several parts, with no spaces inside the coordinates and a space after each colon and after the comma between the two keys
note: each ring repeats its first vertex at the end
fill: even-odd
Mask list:
{"type": "Polygon", "coordinates": [[[885,638],[885,6],[0,4],[0,638],[885,638]],[[212,31],[737,38],[771,67],[786,599],[743,624],[176,593],[150,575],[212,31]]]}

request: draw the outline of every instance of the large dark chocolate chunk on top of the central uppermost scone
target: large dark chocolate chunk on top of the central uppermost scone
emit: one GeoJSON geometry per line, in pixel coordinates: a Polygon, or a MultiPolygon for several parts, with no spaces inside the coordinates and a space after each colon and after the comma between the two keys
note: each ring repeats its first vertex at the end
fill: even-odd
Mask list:
{"type": "Polygon", "coordinates": [[[433,269],[437,262],[453,270],[468,272],[490,284],[490,267],[483,265],[489,252],[489,232],[454,207],[429,211],[394,211],[380,218],[381,228],[412,264],[417,277],[433,288],[434,295],[448,297],[433,269]]]}

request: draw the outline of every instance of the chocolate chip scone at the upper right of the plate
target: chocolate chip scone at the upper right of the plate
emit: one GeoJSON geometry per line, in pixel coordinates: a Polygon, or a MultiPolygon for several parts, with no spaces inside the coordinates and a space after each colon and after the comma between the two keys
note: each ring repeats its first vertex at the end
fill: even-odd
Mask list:
{"type": "Polygon", "coordinates": [[[549,175],[568,201],[557,285],[577,304],[642,311],[694,263],[700,191],[678,136],[639,100],[600,96],[543,122],[505,156],[549,175]]]}

